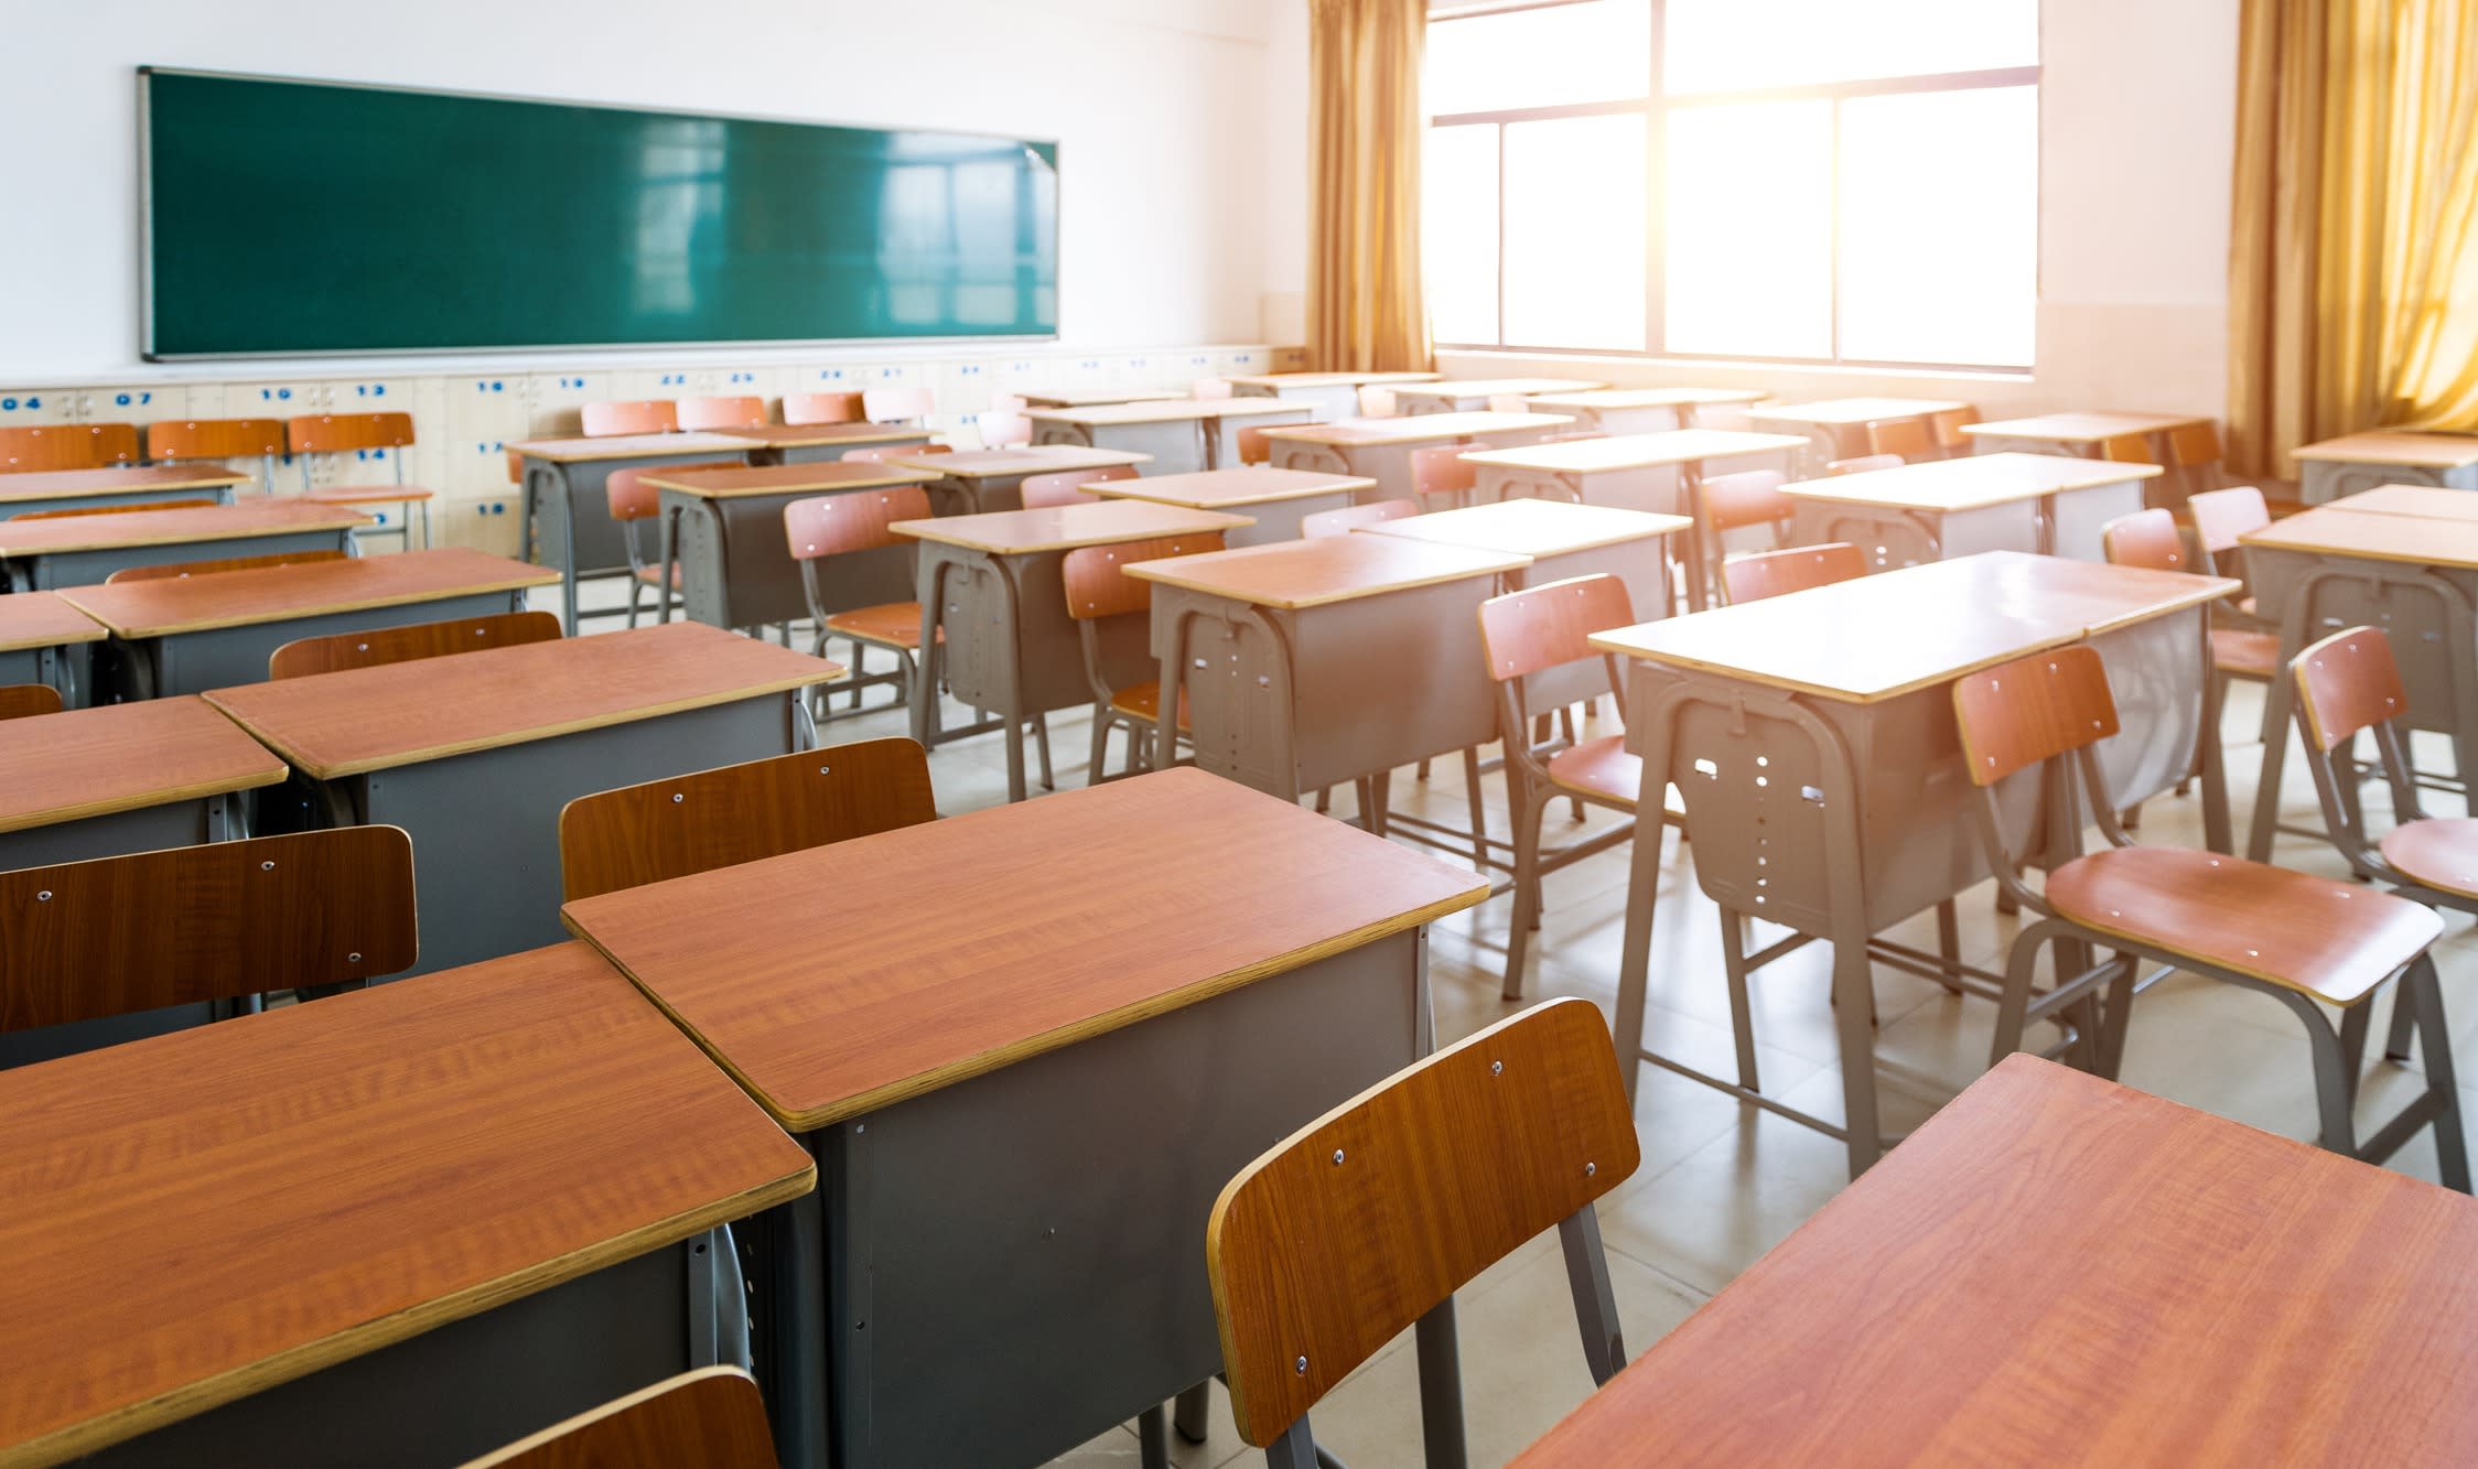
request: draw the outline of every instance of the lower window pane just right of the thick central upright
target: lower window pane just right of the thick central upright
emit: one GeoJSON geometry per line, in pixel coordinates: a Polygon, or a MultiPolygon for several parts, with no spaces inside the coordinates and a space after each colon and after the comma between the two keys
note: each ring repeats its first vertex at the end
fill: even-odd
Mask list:
{"type": "Polygon", "coordinates": [[[1831,357],[1831,107],[1670,111],[1668,352],[1831,357]]]}

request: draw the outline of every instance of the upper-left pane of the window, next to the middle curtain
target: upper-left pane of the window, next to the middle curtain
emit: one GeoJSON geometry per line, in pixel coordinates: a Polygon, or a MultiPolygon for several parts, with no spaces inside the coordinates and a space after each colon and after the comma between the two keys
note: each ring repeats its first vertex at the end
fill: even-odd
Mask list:
{"type": "Polygon", "coordinates": [[[1437,20],[1422,77],[1430,116],[1648,97],[1653,7],[1588,0],[1437,20]]]}

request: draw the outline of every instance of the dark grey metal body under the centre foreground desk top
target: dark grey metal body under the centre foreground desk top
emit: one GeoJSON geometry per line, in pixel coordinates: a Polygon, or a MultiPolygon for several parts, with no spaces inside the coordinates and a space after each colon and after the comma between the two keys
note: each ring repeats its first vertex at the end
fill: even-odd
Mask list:
{"type": "Polygon", "coordinates": [[[1222,1187],[1427,1048],[1415,929],[810,1132],[751,1221],[783,1464],[1041,1464],[1204,1382],[1222,1187]]]}

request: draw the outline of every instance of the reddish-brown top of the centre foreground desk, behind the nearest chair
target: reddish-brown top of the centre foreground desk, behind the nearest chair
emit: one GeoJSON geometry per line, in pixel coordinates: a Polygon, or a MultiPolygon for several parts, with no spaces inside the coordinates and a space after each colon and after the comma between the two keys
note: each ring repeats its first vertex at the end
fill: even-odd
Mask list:
{"type": "Polygon", "coordinates": [[[1189,768],[560,912],[808,1132],[1484,897],[1467,870],[1189,768]]]}

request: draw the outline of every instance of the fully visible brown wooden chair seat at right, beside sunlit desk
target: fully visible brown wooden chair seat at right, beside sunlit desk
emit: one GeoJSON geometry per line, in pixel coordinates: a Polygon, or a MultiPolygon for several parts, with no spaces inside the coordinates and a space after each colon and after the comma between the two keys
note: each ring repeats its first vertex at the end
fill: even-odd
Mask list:
{"type": "Polygon", "coordinates": [[[2067,919],[2354,1006],[2443,931],[2406,897],[2191,847],[2106,847],[2047,874],[2067,919]]]}

